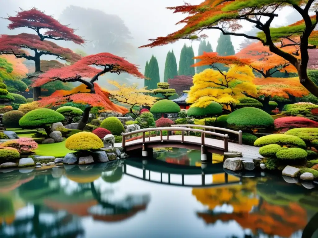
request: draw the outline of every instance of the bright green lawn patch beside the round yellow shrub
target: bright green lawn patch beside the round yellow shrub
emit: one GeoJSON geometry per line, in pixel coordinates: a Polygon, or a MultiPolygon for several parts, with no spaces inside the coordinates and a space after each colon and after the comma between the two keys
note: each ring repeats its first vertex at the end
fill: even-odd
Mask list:
{"type": "Polygon", "coordinates": [[[38,149],[35,150],[35,155],[54,156],[58,158],[64,157],[66,154],[71,152],[75,151],[66,149],[64,140],[58,143],[39,144],[38,149]]]}

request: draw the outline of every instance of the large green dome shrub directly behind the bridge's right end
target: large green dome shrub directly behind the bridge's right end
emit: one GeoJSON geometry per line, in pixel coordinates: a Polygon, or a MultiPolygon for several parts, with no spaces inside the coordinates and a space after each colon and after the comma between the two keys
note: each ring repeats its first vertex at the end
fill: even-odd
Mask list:
{"type": "Polygon", "coordinates": [[[226,122],[239,129],[257,129],[272,127],[274,119],[259,108],[246,107],[232,112],[226,122]]]}

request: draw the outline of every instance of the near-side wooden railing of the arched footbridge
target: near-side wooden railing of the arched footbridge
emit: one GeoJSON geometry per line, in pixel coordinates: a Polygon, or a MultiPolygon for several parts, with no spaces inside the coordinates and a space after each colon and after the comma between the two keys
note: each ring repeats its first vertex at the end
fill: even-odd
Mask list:
{"type": "MultiPolygon", "coordinates": [[[[185,126],[185,125],[183,125],[185,126]]],[[[146,132],[149,132],[149,141],[150,141],[150,132],[152,131],[160,131],[160,141],[163,142],[163,135],[162,135],[162,131],[181,131],[181,140],[180,142],[183,143],[184,142],[184,132],[185,131],[191,131],[191,132],[199,132],[201,133],[201,145],[205,145],[205,135],[212,135],[212,136],[218,136],[223,138],[224,141],[224,151],[227,152],[228,151],[228,138],[229,136],[227,134],[221,134],[221,133],[217,133],[217,132],[212,132],[212,131],[207,131],[207,130],[200,130],[200,129],[193,129],[193,128],[187,128],[187,127],[158,127],[158,128],[146,128],[146,129],[140,129],[140,130],[135,130],[132,132],[128,132],[128,133],[121,133],[122,135],[122,147],[125,148],[126,147],[126,136],[131,136],[134,134],[138,134],[138,133],[142,133],[142,143],[146,142],[146,132]]],[[[165,141],[169,141],[169,133],[167,135],[167,140],[165,141]]],[[[175,140],[174,140],[175,141],[175,140]]]]}

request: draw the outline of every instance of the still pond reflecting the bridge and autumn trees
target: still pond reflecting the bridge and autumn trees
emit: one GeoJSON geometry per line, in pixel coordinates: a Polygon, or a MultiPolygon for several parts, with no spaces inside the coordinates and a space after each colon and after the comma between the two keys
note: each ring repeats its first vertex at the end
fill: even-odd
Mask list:
{"type": "Polygon", "coordinates": [[[318,190],[199,155],[1,170],[0,237],[318,237],[318,190]]]}

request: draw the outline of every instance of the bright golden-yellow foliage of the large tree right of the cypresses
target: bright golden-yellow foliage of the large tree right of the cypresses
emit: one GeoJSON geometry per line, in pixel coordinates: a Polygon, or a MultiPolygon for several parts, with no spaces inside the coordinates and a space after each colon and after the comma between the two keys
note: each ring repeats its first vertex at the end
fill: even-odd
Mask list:
{"type": "Polygon", "coordinates": [[[212,101],[220,104],[235,104],[246,93],[257,96],[254,74],[249,66],[230,65],[228,72],[205,69],[193,76],[188,103],[194,107],[206,107],[212,101]]]}

